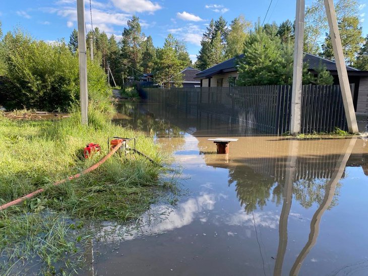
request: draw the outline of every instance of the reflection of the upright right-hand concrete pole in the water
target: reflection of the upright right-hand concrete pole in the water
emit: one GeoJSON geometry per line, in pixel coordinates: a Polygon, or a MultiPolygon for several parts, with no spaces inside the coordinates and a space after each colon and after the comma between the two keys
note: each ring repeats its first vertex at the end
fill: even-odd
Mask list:
{"type": "Polygon", "coordinates": [[[282,263],[284,262],[286,246],[287,246],[287,220],[291,209],[292,186],[296,178],[296,161],[298,155],[299,141],[291,140],[289,143],[287,168],[285,175],[285,186],[283,191],[284,201],[279,221],[279,246],[277,249],[276,263],[273,274],[281,275],[282,263]]]}

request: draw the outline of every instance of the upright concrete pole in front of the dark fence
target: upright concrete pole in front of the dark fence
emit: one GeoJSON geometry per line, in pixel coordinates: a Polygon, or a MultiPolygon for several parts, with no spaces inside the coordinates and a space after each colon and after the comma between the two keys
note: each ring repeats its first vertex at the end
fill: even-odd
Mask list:
{"type": "Polygon", "coordinates": [[[296,0],[295,16],[295,44],[294,44],[294,71],[292,75],[291,94],[291,122],[290,133],[300,132],[301,91],[303,79],[303,44],[304,44],[304,15],[305,0],[296,0]]]}

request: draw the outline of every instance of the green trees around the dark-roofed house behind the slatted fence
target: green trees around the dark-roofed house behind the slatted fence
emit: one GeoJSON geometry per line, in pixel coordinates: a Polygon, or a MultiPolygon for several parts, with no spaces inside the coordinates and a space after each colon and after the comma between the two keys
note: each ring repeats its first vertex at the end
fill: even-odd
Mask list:
{"type": "MultiPolygon", "coordinates": [[[[346,64],[368,70],[368,35],[362,37],[359,3],[339,0],[336,13],[346,64]]],[[[295,24],[286,20],[281,24],[259,22],[253,24],[240,15],[227,26],[223,17],[211,20],[201,40],[195,67],[203,71],[229,58],[237,58],[238,85],[291,84],[295,24]]],[[[316,0],[306,8],[304,52],[334,60],[331,37],[323,0],[316,0]],[[325,32],[325,37],[323,37],[325,32]]],[[[322,65],[309,70],[303,65],[304,84],[331,84],[329,72],[322,65]]]]}

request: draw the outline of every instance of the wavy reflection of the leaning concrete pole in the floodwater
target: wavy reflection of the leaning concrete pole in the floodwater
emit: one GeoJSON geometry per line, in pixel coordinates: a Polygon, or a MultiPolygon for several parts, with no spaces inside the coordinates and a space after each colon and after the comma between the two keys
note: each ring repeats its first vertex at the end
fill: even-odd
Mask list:
{"type": "Polygon", "coordinates": [[[323,213],[329,208],[332,199],[334,198],[336,185],[342,177],[344,173],[344,169],[346,166],[346,162],[348,161],[350,154],[355,146],[356,138],[352,138],[351,140],[346,140],[344,145],[344,154],[340,156],[337,160],[336,167],[334,173],[331,176],[331,179],[326,185],[325,196],[323,197],[322,203],[320,207],[317,209],[311,221],[311,232],[309,234],[308,242],[305,244],[304,248],[301,250],[300,254],[297,256],[294,265],[290,270],[290,275],[297,275],[299,273],[300,267],[308,253],[315,246],[318,238],[318,234],[320,232],[320,222],[323,213]]]}

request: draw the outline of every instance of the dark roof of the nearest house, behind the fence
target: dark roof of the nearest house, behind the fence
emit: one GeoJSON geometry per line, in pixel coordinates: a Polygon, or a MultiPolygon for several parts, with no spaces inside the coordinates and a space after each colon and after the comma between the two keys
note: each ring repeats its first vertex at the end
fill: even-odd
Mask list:
{"type": "MultiPolygon", "coordinates": [[[[242,58],[244,55],[241,54],[238,57],[242,58]]],[[[227,73],[227,72],[234,72],[237,71],[235,68],[235,60],[237,57],[233,57],[230,58],[224,62],[221,62],[215,66],[212,66],[204,71],[202,71],[201,73],[198,73],[196,75],[196,79],[207,79],[210,78],[214,75],[217,74],[221,74],[221,73],[227,73]]],[[[322,62],[322,65],[325,65],[327,70],[329,71],[337,71],[337,67],[336,67],[336,63],[334,61],[328,60],[326,58],[317,56],[317,55],[313,55],[313,54],[305,54],[304,55],[304,62],[308,62],[309,63],[309,69],[313,70],[314,68],[318,67],[320,65],[320,62],[322,62]]],[[[357,73],[360,72],[359,70],[350,67],[350,66],[346,66],[346,70],[349,73],[357,73]]]]}

